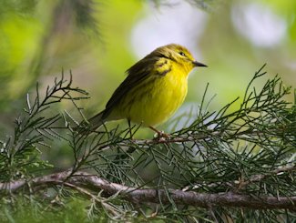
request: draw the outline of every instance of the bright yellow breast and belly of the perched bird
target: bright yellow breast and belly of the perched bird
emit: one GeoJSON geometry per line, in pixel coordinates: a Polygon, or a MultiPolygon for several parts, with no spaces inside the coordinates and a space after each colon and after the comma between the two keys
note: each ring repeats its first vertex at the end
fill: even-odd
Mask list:
{"type": "Polygon", "coordinates": [[[144,126],[156,126],[171,117],[187,95],[187,76],[168,73],[146,80],[123,98],[117,112],[121,118],[144,126]]]}

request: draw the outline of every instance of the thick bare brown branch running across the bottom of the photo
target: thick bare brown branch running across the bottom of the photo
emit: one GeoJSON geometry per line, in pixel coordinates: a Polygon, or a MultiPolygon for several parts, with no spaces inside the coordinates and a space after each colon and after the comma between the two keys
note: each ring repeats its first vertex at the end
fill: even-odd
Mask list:
{"type": "Polygon", "coordinates": [[[85,172],[77,172],[68,178],[71,171],[60,172],[47,175],[44,177],[36,177],[30,182],[25,180],[15,181],[11,183],[1,183],[0,190],[9,190],[17,192],[21,188],[26,188],[29,184],[34,187],[50,187],[52,185],[63,185],[69,188],[79,188],[78,191],[84,190],[97,194],[103,190],[106,197],[117,194],[123,199],[134,203],[157,203],[168,204],[171,201],[176,204],[190,205],[201,208],[210,208],[215,206],[232,207],[232,208],[254,208],[254,209],[273,209],[287,208],[296,210],[296,196],[293,197],[272,197],[272,196],[251,196],[238,193],[197,193],[193,191],[182,191],[179,189],[150,189],[150,188],[131,188],[116,183],[112,183],[85,172]],[[65,182],[66,180],[66,182],[65,182]],[[168,198],[169,193],[169,198],[168,198]]]}

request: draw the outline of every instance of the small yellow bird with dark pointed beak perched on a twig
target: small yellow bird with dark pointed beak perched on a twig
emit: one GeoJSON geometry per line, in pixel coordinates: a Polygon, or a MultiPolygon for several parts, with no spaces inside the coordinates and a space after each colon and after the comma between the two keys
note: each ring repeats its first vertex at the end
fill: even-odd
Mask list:
{"type": "Polygon", "coordinates": [[[117,87],[105,110],[91,117],[94,130],[111,120],[127,118],[154,131],[183,103],[188,89],[189,72],[205,66],[194,60],[184,46],[161,46],[131,66],[126,79],[117,87]]]}

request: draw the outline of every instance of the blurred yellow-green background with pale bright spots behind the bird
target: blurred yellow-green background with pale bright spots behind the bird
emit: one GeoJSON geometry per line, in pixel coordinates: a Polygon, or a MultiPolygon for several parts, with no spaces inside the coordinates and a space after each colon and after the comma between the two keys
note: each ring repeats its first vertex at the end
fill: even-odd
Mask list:
{"type": "MultiPolygon", "coordinates": [[[[13,130],[36,81],[45,88],[62,69],[71,70],[74,85],[90,93],[79,105],[90,117],[104,108],[129,66],[170,43],[187,46],[209,66],[189,76],[189,95],[176,116],[199,105],[207,83],[209,98],[217,95],[210,110],[243,95],[265,63],[270,76],[296,85],[294,0],[0,0],[0,5],[1,137],[13,130]]],[[[160,128],[170,131],[169,121],[160,128]]]]}

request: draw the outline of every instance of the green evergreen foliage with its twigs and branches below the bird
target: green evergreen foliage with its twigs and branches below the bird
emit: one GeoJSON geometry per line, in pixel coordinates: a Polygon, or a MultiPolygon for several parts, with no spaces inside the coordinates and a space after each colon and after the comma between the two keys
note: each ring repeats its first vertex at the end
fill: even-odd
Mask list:
{"type": "Polygon", "coordinates": [[[81,134],[78,105],[87,92],[64,74],[45,93],[36,85],[14,134],[0,142],[0,218],[289,222],[296,209],[295,105],[284,99],[291,88],[279,76],[254,87],[266,76],[263,67],[242,99],[217,112],[209,111],[206,89],[195,120],[169,138],[135,139],[136,125],[83,127],[81,134]],[[59,111],[65,101],[77,112],[59,111]],[[56,141],[72,151],[66,171],[42,157],[56,141]]]}

